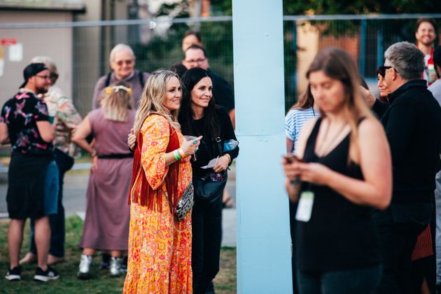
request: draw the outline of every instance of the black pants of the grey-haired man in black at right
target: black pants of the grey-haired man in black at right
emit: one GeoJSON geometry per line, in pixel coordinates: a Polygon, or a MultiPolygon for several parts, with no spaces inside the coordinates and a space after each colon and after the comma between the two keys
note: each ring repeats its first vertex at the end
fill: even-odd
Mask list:
{"type": "Polygon", "coordinates": [[[395,223],[391,209],[376,211],[373,215],[381,239],[383,276],[378,293],[412,293],[412,251],[418,235],[427,225],[419,223],[395,223]]]}

